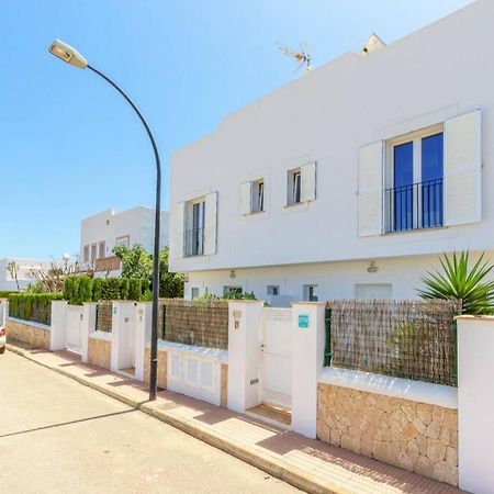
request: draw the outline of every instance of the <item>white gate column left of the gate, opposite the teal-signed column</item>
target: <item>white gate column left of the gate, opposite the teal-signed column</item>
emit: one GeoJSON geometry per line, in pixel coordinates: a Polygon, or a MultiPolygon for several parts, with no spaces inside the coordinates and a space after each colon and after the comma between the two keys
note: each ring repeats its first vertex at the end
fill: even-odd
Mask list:
{"type": "Polygon", "coordinates": [[[235,412],[245,412],[260,403],[262,307],[262,301],[232,301],[228,304],[227,406],[235,412]]]}

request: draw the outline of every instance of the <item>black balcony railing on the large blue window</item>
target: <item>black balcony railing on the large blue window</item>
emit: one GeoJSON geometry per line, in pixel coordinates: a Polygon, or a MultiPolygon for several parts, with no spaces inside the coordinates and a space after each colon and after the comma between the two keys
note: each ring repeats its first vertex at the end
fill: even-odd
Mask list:
{"type": "Polygon", "coordinates": [[[442,179],[386,189],[385,207],[386,232],[442,226],[442,179]]]}

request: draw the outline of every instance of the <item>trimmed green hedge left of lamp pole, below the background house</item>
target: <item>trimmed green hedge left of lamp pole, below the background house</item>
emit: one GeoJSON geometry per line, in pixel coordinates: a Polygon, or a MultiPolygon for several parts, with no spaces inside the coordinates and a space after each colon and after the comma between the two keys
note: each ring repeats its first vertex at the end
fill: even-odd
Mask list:
{"type": "Polygon", "coordinates": [[[85,276],[67,277],[64,299],[70,305],[101,300],[143,300],[148,283],[136,278],[94,278],[85,276]]]}

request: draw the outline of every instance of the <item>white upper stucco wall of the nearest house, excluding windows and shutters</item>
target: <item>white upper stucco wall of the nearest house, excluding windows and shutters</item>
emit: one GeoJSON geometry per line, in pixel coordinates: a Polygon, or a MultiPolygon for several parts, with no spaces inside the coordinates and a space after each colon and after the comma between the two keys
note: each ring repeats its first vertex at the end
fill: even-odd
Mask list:
{"type": "MultiPolygon", "coordinates": [[[[480,0],[369,56],[345,54],[229,115],[212,135],[175,153],[170,232],[176,231],[180,201],[217,191],[217,251],[179,258],[171,237],[171,269],[191,273],[356,259],[381,262],[491,248],[493,18],[494,2],[480,0]],[[482,222],[359,237],[359,148],[475,109],[482,109],[482,222]],[[310,161],[317,162],[317,199],[285,207],[287,170],[310,161]],[[240,186],[256,177],[265,178],[267,212],[243,216],[240,186]]],[[[394,266],[398,277],[416,284],[417,273],[402,273],[394,266]]],[[[295,270],[296,276],[318,278],[321,269],[329,268],[295,270]]],[[[362,271],[362,278],[371,278],[362,271]]],[[[374,279],[382,276],[380,271],[374,279]]],[[[340,291],[352,295],[349,284],[340,291]]]]}

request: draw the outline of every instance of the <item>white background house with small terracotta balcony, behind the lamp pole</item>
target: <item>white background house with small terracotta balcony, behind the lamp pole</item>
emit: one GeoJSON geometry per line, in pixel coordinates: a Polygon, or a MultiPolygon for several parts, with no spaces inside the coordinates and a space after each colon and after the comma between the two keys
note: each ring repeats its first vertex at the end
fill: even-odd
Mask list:
{"type": "MultiPolygon", "coordinates": [[[[168,245],[168,212],[161,211],[160,247],[168,245]]],[[[111,274],[120,273],[120,260],[113,247],[141,244],[153,252],[155,242],[155,210],[137,206],[122,213],[103,211],[82,220],[80,224],[80,263],[82,268],[111,274]]]]}

